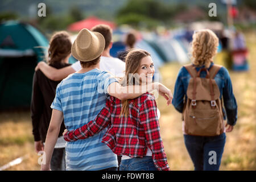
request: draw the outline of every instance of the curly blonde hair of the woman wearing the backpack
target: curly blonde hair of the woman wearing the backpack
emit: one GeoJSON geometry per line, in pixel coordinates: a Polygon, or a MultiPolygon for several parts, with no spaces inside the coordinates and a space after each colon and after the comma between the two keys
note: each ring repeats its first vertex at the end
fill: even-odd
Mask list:
{"type": "Polygon", "coordinates": [[[191,56],[192,63],[197,67],[205,65],[209,68],[213,56],[217,53],[218,38],[213,31],[209,29],[196,31],[193,34],[191,56]]]}

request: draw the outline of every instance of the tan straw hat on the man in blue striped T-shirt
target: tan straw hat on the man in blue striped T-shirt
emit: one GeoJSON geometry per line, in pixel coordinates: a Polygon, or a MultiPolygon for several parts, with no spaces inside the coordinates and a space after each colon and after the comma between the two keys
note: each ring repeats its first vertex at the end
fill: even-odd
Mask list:
{"type": "Polygon", "coordinates": [[[72,55],[80,61],[92,61],[96,59],[105,48],[104,36],[99,32],[89,31],[83,28],[72,45],[72,55]]]}

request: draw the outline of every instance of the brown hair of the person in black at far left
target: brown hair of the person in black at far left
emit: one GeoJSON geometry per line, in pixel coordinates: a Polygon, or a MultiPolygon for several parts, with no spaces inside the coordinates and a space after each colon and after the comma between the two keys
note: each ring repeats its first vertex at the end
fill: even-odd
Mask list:
{"type": "Polygon", "coordinates": [[[56,32],[52,35],[48,49],[48,64],[59,62],[71,53],[72,43],[66,31],[56,32]]]}

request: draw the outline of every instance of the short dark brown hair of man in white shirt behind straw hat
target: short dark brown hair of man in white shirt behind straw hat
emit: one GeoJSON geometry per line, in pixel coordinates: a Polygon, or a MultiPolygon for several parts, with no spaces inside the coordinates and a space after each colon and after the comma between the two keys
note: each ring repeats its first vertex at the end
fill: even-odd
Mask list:
{"type": "Polygon", "coordinates": [[[105,49],[107,49],[109,47],[109,44],[112,41],[112,29],[110,28],[110,26],[106,25],[106,24],[98,24],[97,26],[94,26],[91,31],[94,32],[99,32],[104,36],[105,39],[105,49]]]}

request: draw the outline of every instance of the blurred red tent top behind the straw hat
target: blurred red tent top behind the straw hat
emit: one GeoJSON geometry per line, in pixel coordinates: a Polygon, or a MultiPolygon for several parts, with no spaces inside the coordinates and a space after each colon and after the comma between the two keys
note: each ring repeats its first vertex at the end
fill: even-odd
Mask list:
{"type": "Polygon", "coordinates": [[[89,18],[86,18],[84,20],[81,20],[79,22],[72,23],[68,26],[69,31],[80,31],[82,28],[88,28],[91,29],[92,27],[96,26],[97,24],[107,24],[110,26],[110,28],[115,28],[115,24],[113,22],[109,22],[106,20],[98,19],[94,16],[90,16],[89,18]]]}

